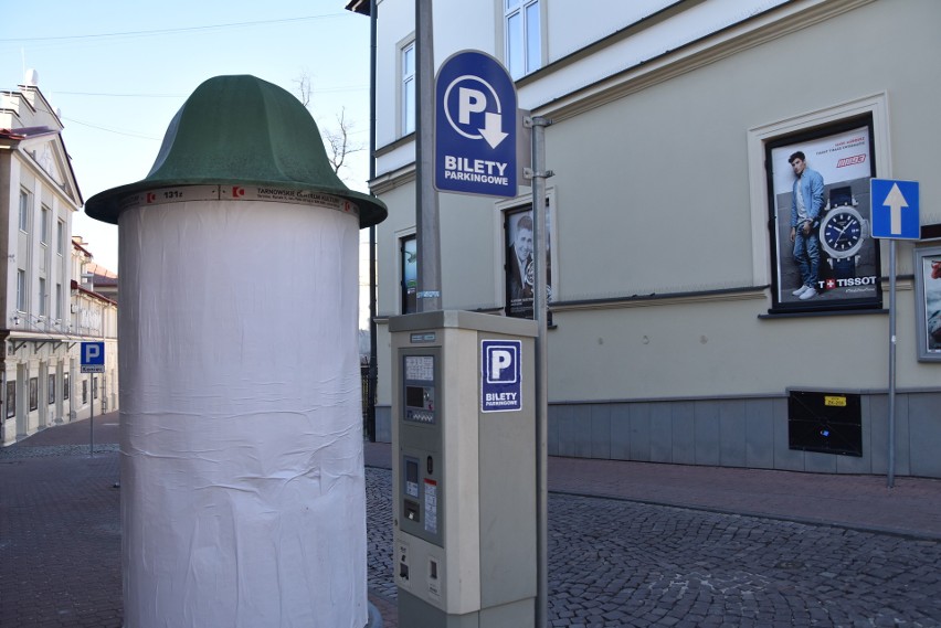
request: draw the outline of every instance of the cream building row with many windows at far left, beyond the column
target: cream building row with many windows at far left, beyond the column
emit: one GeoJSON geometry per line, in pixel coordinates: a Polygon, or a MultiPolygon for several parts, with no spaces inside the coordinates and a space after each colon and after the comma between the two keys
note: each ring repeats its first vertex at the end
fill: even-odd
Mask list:
{"type": "Polygon", "coordinates": [[[117,304],[84,284],[92,256],[72,240],[82,195],[59,115],[34,72],[0,93],[0,444],[117,408],[117,304]],[[83,341],[105,341],[102,374],[83,341]]]}

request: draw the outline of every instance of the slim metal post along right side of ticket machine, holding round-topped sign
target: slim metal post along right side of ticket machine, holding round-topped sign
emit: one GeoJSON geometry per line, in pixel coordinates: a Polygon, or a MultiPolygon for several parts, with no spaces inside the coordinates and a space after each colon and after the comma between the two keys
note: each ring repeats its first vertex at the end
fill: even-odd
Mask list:
{"type": "Polygon", "coordinates": [[[546,166],[546,127],[548,118],[533,117],[532,125],[532,240],[536,252],[532,256],[535,270],[532,290],[532,316],[537,321],[536,338],[536,626],[544,628],[549,621],[549,472],[548,472],[548,416],[546,328],[548,318],[546,272],[546,179],[552,175],[546,166]]]}

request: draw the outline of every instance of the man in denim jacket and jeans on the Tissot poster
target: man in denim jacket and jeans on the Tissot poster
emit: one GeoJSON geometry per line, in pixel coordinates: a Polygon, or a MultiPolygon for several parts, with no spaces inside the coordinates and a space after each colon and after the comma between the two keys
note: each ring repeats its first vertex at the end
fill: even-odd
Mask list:
{"type": "Polygon", "coordinates": [[[820,172],[807,168],[806,157],[800,150],[787,161],[796,177],[791,196],[791,242],[802,280],[801,287],[791,294],[805,301],[817,296],[821,265],[817,230],[824,206],[824,180],[820,172]]]}

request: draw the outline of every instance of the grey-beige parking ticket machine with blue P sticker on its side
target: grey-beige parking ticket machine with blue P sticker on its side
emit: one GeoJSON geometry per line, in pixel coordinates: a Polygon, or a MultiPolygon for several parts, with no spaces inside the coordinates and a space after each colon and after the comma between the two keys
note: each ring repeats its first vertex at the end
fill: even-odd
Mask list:
{"type": "Polygon", "coordinates": [[[533,626],[537,323],[446,310],[389,329],[399,622],[533,626]]]}

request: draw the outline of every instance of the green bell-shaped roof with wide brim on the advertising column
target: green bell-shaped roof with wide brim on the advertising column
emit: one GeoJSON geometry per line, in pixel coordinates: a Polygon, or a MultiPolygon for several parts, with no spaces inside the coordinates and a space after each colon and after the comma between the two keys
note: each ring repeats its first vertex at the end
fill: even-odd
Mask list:
{"type": "Polygon", "coordinates": [[[287,91],[254,76],[216,76],[173,116],[150,173],[95,194],[93,219],[117,224],[121,199],[155,188],[239,184],[308,190],[359,206],[360,227],[385,220],[382,201],[350,190],[334,172],[317,123],[287,91]]]}

